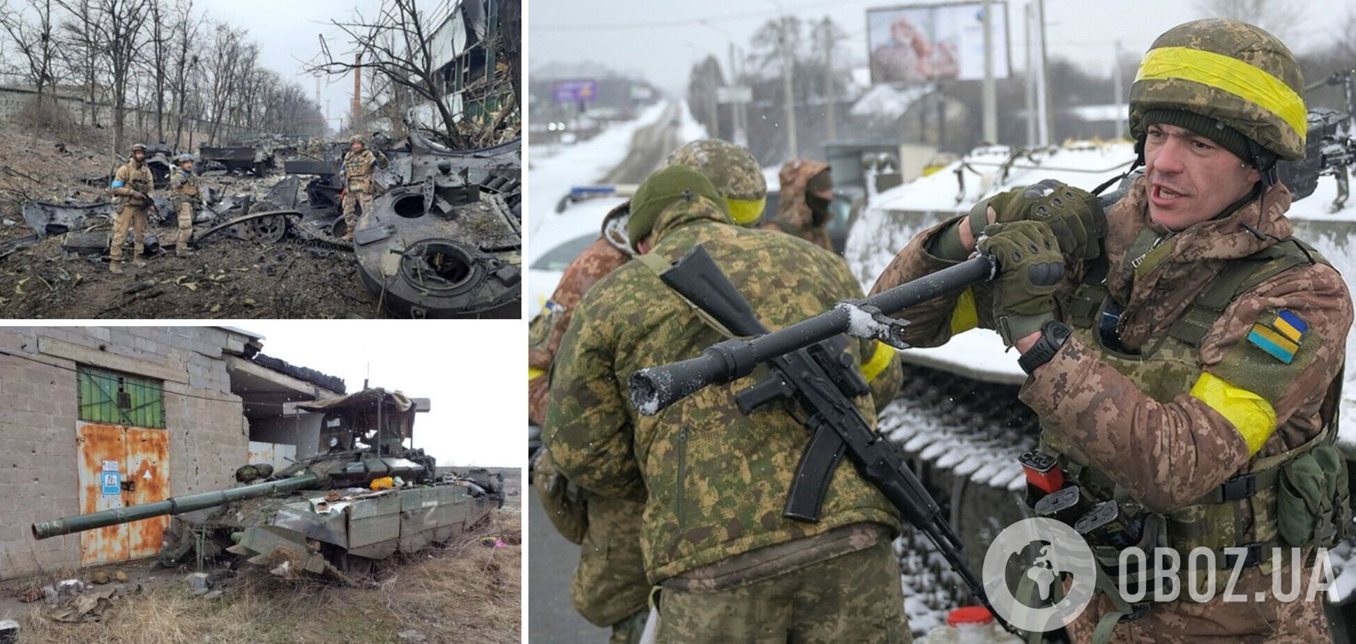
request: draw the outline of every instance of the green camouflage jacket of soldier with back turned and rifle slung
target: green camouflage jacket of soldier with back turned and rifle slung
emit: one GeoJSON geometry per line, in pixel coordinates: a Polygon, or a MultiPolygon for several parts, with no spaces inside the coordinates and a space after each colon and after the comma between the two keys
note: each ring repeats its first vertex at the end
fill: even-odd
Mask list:
{"type": "MultiPolygon", "coordinates": [[[[727,224],[705,201],[669,206],[654,236],[650,252],[670,260],[704,244],[773,329],[861,293],[831,252],[727,224]]],[[[650,268],[628,262],[584,293],[551,373],[542,438],[580,487],[645,502],[641,545],[650,580],[845,525],[894,527],[894,507],[849,464],[834,473],[819,523],[782,518],[810,435],[788,411],[765,407],[744,416],[735,407],[734,393],[765,376],[762,369],[655,416],[629,404],[632,373],[692,358],[721,339],[650,268]]],[[[875,423],[872,401],[857,404],[875,423]]]]}

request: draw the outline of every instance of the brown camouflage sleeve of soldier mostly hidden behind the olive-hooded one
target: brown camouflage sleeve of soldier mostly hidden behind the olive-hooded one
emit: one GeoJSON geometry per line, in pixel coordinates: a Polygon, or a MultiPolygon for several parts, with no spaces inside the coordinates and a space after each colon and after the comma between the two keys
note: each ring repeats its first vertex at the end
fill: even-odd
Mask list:
{"type": "Polygon", "coordinates": [[[546,371],[560,348],[560,338],[575,315],[575,305],[594,282],[631,259],[599,237],[579,254],[556,285],[556,291],[532,320],[527,334],[527,419],[541,424],[546,418],[546,371]]]}

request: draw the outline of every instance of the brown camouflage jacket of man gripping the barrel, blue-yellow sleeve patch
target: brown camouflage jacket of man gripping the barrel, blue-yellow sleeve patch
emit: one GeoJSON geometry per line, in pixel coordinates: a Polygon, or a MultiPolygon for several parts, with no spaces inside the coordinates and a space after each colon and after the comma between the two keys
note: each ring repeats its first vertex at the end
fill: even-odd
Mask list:
{"type": "MultiPolygon", "coordinates": [[[[1294,228],[1284,214],[1290,190],[1273,186],[1262,202],[1265,214],[1253,201],[1227,217],[1196,224],[1176,236],[1168,236],[1169,230],[1149,220],[1143,179],[1111,207],[1106,285],[1124,305],[1121,340],[1127,348],[1136,351],[1163,338],[1229,260],[1291,236],[1294,228]],[[1256,225],[1268,239],[1258,240],[1241,222],[1256,225]],[[1153,262],[1147,254],[1127,256],[1131,243],[1144,229],[1165,237],[1163,251],[1153,262]],[[1136,275],[1135,264],[1140,262],[1136,275]]],[[[926,249],[928,240],[949,224],[914,237],[872,290],[952,264],[926,249]]],[[[1082,279],[1085,268],[1074,266],[1066,275],[1056,293],[1056,317],[1069,315],[1073,285],[1082,279]]],[[[993,328],[983,289],[976,287],[972,298],[957,296],[902,312],[911,321],[904,329],[906,342],[928,347],[949,340],[964,327],[953,320],[965,317],[957,304],[964,306],[967,300],[978,304],[974,313],[979,325],[993,328]]],[[[1026,380],[1020,397],[1040,415],[1045,438],[1054,432],[1060,442],[1078,446],[1092,465],[1144,507],[1169,512],[1192,504],[1235,473],[1248,472],[1254,458],[1299,447],[1319,432],[1319,405],[1342,367],[1351,323],[1351,294],[1341,275],[1323,264],[1303,264],[1243,291],[1205,332],[1199,348],[1200,367],[1261,393],[1275,409],[1276,430],[1256,454],[1250,454],[1234,424],[1200,399],[1182,393],[1155,400],[1102,361],[1100,354],[1105,350],[1078,338],[1070,338],[1054,359],[1026,380]],[[1246,340],[1254,324],[1273,319],[1280,309],[1307,323],[1303,342],[1317,347],[1307,359],[1281,365],[1246,340]],[[1257,369],[1258,365],[1267,369],[1257,369]]]]}

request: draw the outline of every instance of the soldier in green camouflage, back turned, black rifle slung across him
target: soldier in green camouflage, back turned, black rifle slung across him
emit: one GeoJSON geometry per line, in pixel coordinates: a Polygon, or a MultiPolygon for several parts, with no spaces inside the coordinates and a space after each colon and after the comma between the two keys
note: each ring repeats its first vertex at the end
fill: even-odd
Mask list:
{"type": "MultiPolygon", "coordinates": [[[[631,210],[637,254],[671,262],[702,244],[772,328],[861,294],[831,252],[731,225],[716,187],[686,165],[651,175],[631,210]]],[[[636,259],[584,293],[551,374],[542,439],[560,472],[590,494],[645,504],[640,542],[648,580],[660,587],[658,640],[909,641],[891,552],[898,514],[842,466],[818,523],[782,518],[810,435],[782,409],[740,414],[734,392],[751,378],[706,388],[658,416],[625,401],[618,384],[636,370],[720,339],[636,259]]],[[[873,344],[849,351],[864,348],[873,344]]],[[[888,399],[898,369],[884,377],[888,399]]],[[[856,403],[873,422],[872,399],[856,403]]]]}

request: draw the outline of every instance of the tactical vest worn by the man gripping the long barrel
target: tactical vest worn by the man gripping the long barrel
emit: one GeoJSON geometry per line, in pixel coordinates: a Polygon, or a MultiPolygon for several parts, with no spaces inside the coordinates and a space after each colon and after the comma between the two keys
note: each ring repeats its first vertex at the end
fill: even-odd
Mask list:
{"type": "MultiPolygon", "coordinates": [[[[1332,266],[1318,251],[1296,239],[1230,260],[1173,321],[1166,334],[1146,343],[1142,354],[1132,355],[1108,347],[1100,329],[1115,324],[1117,320],[1115,309],[1119,306],[1105,285],[1106,264],[1102,260],[1094,264],[1067,301],[1064,321],[1073,334],[1098,355],[1098,359],[1130,378],[1144,395],[1159,403],[1169,403],[1188,393],[1200,377],[1201,340],[1234,300],[1287,270],[1311,263],[1332,266]]],[[[1269,561],[1272,548],[1280,546],[1288,552],[1292,545],[1284,544],[1277,536],[1276,499],[1281,468],[1315,446],[1330,443],[1336,438],[1341,380],[1338,376],[1329,386],[1321,411],[1323,427],[1317,437],[1280,454],[1254,457],[1249,473],[1234,476],[1191,506],[1166,515],[1154,515],[1155,521],[1146,521],[1144,530],[1157,527],[1157,534],[1146,537],[1157,538],[1158,548],[1176,549],[1181,556],[1182,569],[1186,568],[1188,553],[1200,546],[1216,550],[1216,565],[1233,568],[1237,557],[1226,556],[1223,549],[1242,546],[1248,550],[1245,567],[1264,565],[1267,567],[1264,572],[1269,572],[1273,564],[1269,561]]],[[[1056,432],[1043,432],[1041,450],[1058,457],[1064,472],[1083,487],[1093,503],[1115,499],[1121,504],[1138,506],[1124,488],[1116,485],[1105,472],[1090,465],[1090,460],[1077,445],[1060,445],[1055,437],[1056,432]]],[[[1144,511],[1144,515],[1147,514],[1144,511]]],[[[1340,530],[1336,537],[1322,536],[1321,541],[1326,542],[1310,545],[1332,545],[1336,538],[1340,538],[1340,530]]],[[[1315,537],[1315,541],[1319,538],[1315,537]]],[[[1104,559],[1102,555],[1098,552],[1100,559],[1104,559]]],[[[1181,582],[1204,588],[1204,571],[1199,572],[1201,572],[1199,579],[1186,579],[1182,573],[1181,582]]],[[[1224,573],[1215,575],[1216,591],[1223,590],[1229,578],[1230,575],[1224,573]]],[[[1181,598],[1188,598],[1188,594],[1184,591],[1181,598]]]]}

